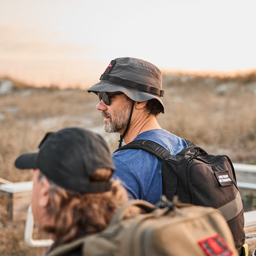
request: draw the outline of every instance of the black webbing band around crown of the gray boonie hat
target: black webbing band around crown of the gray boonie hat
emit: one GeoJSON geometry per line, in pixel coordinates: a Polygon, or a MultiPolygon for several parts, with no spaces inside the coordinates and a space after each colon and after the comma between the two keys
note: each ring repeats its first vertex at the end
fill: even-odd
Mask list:
{"type": "Polygon", "coordinates": [[[136,89],[136,90],[139,90],[141,92],[147,92],[147,93],[150,93],[150,94],[154,94],[154,95],[157,95],[159,97],[163,97],[163,95],[164,95],[164,91],[160,90],[158,88],[155,88],[155,87],[152,87],[152,86],[149,86],[149,85],[146,85],[146,84],[136,83],[136,82],[133,82],[133,81],[127,80],[127,79],[122,79],[122,78],[117,77],[117,76],[110,76],[109,74],[102,74],[100,76],[100,80],[106,80],[106,81],[109,81],[109,82],[122,84],[122,86],[130,87],[132,89],[136,89]]]}

